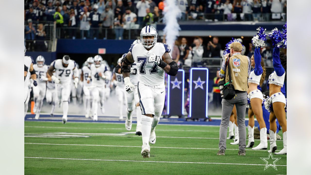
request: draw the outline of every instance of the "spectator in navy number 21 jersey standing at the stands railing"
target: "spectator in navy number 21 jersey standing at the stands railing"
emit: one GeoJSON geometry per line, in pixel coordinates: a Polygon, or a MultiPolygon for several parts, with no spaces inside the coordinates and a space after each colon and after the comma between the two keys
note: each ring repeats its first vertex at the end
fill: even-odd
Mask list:
{"type": "Polygon", "coordinates": [[[97,11],[98,9],[97,4],[94,4],[93,9],[94,11],[90,13],[90,24],[91,24],[90,36],[91,38],[94,37],[94,39],[96,40],[99,35],[100,13],[97,11]]]}

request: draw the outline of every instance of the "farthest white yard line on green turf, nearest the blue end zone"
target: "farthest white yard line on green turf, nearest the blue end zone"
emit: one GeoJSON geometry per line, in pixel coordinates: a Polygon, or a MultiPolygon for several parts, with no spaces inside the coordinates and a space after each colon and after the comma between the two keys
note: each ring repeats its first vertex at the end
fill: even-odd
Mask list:
{"type": "MultiPolygon", "coordinates": [[[[26,128],[55,128],[55,129],[86,129],[86,130],[124,130],[124,128],[78,128],[78,127],[55,127],[55,126],[25,126],[26,128]]],[[[185,131],[185,132],[219,132],[215,130],[161,130],[157,131],[185,131]]]]}

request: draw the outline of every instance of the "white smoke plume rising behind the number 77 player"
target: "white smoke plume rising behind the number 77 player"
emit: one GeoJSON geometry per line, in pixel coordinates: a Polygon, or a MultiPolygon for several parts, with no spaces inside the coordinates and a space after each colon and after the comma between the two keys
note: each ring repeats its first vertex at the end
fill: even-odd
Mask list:
{"type": "Polygon", "coordinates": [[[179,36],[180,27],[177,19],[181,17],[181,11],[176,4],[176,0],[165,0],[164,4],[164,33],[166,35],[166,44],[173,50],[175,40],[179,36]]]}

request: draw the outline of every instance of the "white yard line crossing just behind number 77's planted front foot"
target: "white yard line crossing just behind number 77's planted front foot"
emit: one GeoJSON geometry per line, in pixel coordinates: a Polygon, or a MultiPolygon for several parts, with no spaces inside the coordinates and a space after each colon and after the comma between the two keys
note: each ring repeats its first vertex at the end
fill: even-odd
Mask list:
{"type": "MultiPolygon", "coordinates": [[[[67,146],[107,146],[107,147],[132,147],[132,148],[141,148],[141,146],[122,146],[122,145],[100,145],[100,144],[46,144],[46,143],[25,143],[25,144],[44,144],[44,145],[67,145],[67,146]]],[[[165,148],[165,149],[213,149],[219,150],[218,148],[179,148],[179,147],[158,147],[158,146],[151,146],[151,148],[165,148]]],[[[226,150],[239,150],[239,149],[226,149],[226,150]]],[[[253,149],[246,149],[251,151],[267,151],[267,150],[253,150],[253,149]]]]}

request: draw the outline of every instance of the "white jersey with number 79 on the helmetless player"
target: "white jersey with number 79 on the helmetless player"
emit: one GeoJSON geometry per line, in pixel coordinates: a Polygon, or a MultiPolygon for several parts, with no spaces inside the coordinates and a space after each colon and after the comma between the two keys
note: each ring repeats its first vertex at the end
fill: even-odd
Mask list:
{"type": "Polygon", "coordinates": [[[60,80],[61,84],[70,84],[72,80],[73,69],[76,67],[76,62],[72,59],[69,60],[67,68],[63,66],[63,59],[56,59],[53,62],[56,77],[60,80]]]}

